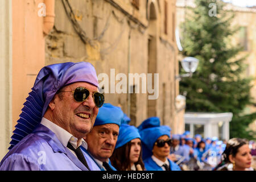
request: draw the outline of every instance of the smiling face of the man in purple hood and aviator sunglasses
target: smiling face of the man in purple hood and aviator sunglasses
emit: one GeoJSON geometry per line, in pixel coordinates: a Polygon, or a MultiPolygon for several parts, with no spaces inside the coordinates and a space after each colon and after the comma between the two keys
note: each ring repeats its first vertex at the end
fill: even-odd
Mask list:
{"type": "Polygon", "coordinates": [[[80,86],[90,90],[90,95],[85,101],[77,102],[72,92],[61,92],[62,97],[56,94],[49,104],[53,122],[79,139],[85,137],[94,125],[98,107],[94,104],[92,92],[97,92],[98,89],[87,82],[75,82],[61,89],[61,91],[74,91],[80,86]]]}

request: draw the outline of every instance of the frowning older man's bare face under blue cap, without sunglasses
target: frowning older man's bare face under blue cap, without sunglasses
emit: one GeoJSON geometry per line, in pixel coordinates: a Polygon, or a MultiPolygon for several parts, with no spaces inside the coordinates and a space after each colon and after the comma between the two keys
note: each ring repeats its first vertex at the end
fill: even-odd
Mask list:
{"type": "Polygon", "coordinates": [[[86,135],[88,151],[94,158],[105,162],[112,156],[119,134],[119,126],[113,123],[93,126],[86,135]]]}

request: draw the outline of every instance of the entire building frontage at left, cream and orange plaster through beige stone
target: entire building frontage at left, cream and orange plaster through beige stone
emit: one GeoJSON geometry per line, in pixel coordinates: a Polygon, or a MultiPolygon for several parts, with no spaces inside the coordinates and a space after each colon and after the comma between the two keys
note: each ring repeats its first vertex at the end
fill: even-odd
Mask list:
{"type": "Polygon", "coordinates": [[[7,152],[37,73],[44,65],[64,61],[89,61],[99,78],[108,76],[109,83],[101,87],[106,102],[121,106],[130,116],[131,125],[138,126],[144,119],[157,116],[162,124],[172,127],[172,133],[182,133],[185,100],[177,97],[179,81],[175,80],[179,74],[175,3],[176,0],[0,1],[0,82],[4,85],[0,88],[4,103],[0,107],[0,158],[7,152]],[[142,78],[129,83],[129,73],[134,74],[131,77],[138,73],[146,78],[146,92],[142,78]],[[148,73],[153,76],[151,84],[148,73]],[[127,78],[127,84],[122,78],[127,78]],[[124,84],[117,90],[120,81],[124,84]],[[124,93],[119,93],[120,88],[124,93]],[[138,93],[129,93],[129,89],[138,93]],[[156,99],[148,100],[154,94],[156,99]]]}

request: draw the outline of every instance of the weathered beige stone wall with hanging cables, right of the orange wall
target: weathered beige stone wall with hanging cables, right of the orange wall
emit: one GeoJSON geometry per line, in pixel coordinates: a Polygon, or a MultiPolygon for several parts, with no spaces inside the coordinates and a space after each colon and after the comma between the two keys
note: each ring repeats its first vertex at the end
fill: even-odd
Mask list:
{"type": "MultiPolygon", "coordinates": [[[[175,1],[168,2],[168,33],[164,34],[164,1],[140,1],[139,10],[130,1],[69,1],[77,22],[92,40],[82,43],[74,31],[60,0],[55,1],[55,28],[46,39],[46,65],[63,61],[89,61],[97,74],[110,69],[117,73],[148,73],[148,55],[155,55],[153,73],[159,73],[159,98],[152,102],[156,116],[162,123],[174,122],[174,103],[177,92],[174,80],[177,48],[174,42],[175,1]],[[154,3],[156,19],[149,25],[150,3],[154,3]],[[148,15],[147,15],[148,13],[148,15]],[[174,18],[172,18],[174,15],[174,18]],[[106,24],[108,26],[106,26],[106,24]],[[93,40],[104,32],[101,39],[93,40]],[[129,36],[130,35],[130,36],[129,36]],[[148,39],[155,38],[154,47],[148,51],[148,39]],[[130,39],[129,39],[130,37],[130,39]],[[162,86],[165,84],[165,93],[162,86]],[[176,94],[176,95],[175,95],[176,94]],[[165,97],[163,97],[163,95],[165,97]]],[[[177,72],[177,71],[176,71],[177,72]]],[[[118,81],[115,82],[117,84],[118,81]]],[[[106,102],[122,107],[125,113],[134,115],[134,125],[139,125],[148,116],[147,94],[105,94],[106,102]],[[130,106],[129,106],[130,103],[130,106]],[[130,109],[129,109],[130,108],[130,109]]]]}

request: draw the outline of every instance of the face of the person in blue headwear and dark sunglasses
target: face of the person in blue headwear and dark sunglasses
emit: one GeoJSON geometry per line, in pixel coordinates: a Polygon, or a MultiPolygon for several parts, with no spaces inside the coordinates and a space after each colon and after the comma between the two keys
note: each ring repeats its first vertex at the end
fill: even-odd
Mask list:
{"type": "MultiPolygon", "coordinates": [[[[167,140],[169,137],[167,135],[163,135],[161,137],[159,137],[158,139],[163,139],[163,140],[167,140]]],[[[156,145],[154,145],[153,147],[153,155],[158,158],[158,159],[165,159],[167,158],[167,156],[170,154],[170,146],[167,143],[164,143],[163,147],[158,147],[156,145]]]]}

